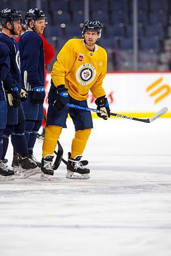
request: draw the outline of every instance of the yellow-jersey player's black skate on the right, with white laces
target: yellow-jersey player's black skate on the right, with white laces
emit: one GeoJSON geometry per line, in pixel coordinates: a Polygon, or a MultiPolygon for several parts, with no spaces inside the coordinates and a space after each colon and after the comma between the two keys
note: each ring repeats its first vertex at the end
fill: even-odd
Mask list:
{"type": "Polygon", "coordinates": [[[89,179],[90,169],[85,168],[81,163],[81,155],[71,158],[70,152],[68,153],[68,163],[67,163],[67,174],[66,178],[68,179],[89,179]],[[79,174],[79,175],[78,175],[79,174]]]}

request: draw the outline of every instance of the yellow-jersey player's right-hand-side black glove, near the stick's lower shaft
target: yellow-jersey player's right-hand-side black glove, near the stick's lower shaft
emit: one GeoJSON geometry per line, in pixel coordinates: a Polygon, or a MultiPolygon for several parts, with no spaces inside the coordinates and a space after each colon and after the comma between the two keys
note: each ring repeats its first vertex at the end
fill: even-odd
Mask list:
{"type": "Polygon", "coordinates": [[[109,103],[107,98],[105,98],[106,95],[97,98],[94,102],[97,105],[97,110],[103,111],[103,113],[97,113],[97,116],[103,118],[104,120],[107,120],[108,117],[110,117],[110,109],[109,109],[109,103]]]}

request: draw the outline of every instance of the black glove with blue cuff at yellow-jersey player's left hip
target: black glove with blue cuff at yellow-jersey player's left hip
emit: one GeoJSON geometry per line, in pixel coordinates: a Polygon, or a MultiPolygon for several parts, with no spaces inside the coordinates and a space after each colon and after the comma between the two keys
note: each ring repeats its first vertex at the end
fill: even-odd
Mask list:
{"type": "Polygon", "coordinates": [[[67,103],[68,89],[65,88],[64,84],[61,84],[56,89],[56,99],[54,100],[53,106],[58,110],[62,110],[67,103]]]}

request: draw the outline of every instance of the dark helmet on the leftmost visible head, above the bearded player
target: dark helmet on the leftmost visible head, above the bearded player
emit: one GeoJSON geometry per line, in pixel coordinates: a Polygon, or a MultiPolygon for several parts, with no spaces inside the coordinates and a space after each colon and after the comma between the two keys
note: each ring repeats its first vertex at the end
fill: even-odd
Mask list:
{"type": "Polygon", "coordinates": [[[14,20],[19,19],[21,26],[23,25],[23,20],[21,13],[15,9],[7,8],[0,12],[0,24],[2,27],[6,27],[6,23],[9,22],[13,26],[14,20]]]}

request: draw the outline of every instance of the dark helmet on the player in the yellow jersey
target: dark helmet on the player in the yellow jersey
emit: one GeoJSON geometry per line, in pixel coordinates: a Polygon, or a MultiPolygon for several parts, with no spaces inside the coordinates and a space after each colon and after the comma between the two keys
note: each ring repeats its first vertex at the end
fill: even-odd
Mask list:
{"type": "Polygon", "coordinates": [[[87,20],[84,25],[83,25],[83,29],[82,29],[82,37],[84,37],[84,34],[86,31],[96,31],[98,32],[98,39],[101,38],[101,34],[102,34],[102,27],[101,27],[101,23],[99,20],[87,20]]]}

